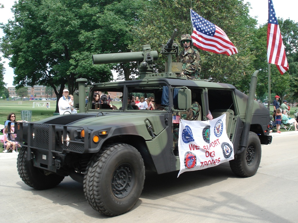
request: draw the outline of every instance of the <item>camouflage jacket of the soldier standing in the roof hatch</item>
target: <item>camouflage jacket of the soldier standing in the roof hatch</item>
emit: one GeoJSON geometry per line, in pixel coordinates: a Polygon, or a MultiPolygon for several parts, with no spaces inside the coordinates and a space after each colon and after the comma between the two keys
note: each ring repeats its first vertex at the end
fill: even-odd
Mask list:
{"type": "Polygon", "coordinates": [[[198,79],[200,66],[200,54],[196,49],[190,48],[184,55],[184,50],[179,54],[179,62],[182,62],[182,72],[188,79],[198,79]]]}

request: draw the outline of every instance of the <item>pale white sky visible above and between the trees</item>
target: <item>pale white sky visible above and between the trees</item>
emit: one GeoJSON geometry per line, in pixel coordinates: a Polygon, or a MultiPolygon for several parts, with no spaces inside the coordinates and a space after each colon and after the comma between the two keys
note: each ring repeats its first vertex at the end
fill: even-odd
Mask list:
{"type": "MultiPolygon", "coordinates": [[[[268,0],[243,0],[244,2],[250,2],[252,9],[250,9],[249,15],[253,18],[257,16],[258,23],[263,25],[267,23],[268,19],[268,0]]],[[[297,0],[273,0],[273,5],[277,17],[284,20],[290,18],[291,20],[298,22],[298,13],[296,8],[297,0]]],[[[0,22],[7,23],[8,19],[13,19],[13,13],[11,7],[14,4],[13,0],[0,0],[0,3],[4,5],[3,9],[0,9],[0,22]]],[[[2,30],[0,30],[0,37],[3,36],[2,30]]],[[[145,43],[144,43],[145,44],[145,43]]],[[[13,86],[13,69],[8,66],[9,60],[1,58],[1,62],[5,62],[4,67],[6,69],[4,73],[4,82],[7,83],[6,87],[13,86]]],[[[117,77],[117,74],[116,74],[117,77]]],[[[115,77],[114,77],[115,78],[115,77]]]]}

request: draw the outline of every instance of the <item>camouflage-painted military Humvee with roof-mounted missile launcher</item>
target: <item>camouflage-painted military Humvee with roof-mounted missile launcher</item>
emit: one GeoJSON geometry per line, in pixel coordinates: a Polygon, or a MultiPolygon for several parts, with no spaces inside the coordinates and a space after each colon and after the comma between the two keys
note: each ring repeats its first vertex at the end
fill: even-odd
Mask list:
{"type": "Polygon", "coordinates": [[[149,45],[136,53],[94,55],[94,64],[137,61],[142,79],[93,84],[87,104],[87,80],[78,79],[77,114],[15,123],[15,132],[9,136],[16,135],[13,140],[22,145],[17,160],[21,179],[42,190],[70,176],[83,183],[86,199],[98,212],[116,216],[129,211],[141,195],[145,169],[158,174],[180,169],[172,119],[173,112],[190,108],[191,92],[201,106],[198,120],[207,120],[209,110],[213,117],[227,114],[226,132],[235,154],[230,167],[238,176],[254,175],[260,165],[261,144],[271,143],[269,110],[230,84],[177,75],[179,65],[171,64],[171,55],[178,51],[173,41],[163,45],[162,53],[169,57],[165,73],[153,73],[157,52],[149,45]],[[121,109],[92,104],[95,91],[122,96],[121,109]],[[153,97],[166,109],[131,110],[131,95],[153,97]]]}

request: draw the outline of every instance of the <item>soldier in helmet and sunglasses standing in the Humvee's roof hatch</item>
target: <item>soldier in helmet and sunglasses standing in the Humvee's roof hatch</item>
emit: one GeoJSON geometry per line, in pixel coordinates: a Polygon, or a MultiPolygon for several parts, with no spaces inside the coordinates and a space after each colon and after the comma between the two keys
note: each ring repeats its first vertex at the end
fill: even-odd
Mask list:
{"type": "Polygon", "coordinates": [[[193,40],[190,34],[183,34],[180,40],[181,47],[184,48],[179,54],[179,62],[182,62],[182,73],[188,79],[198,79],[198,73],[201,69],[200,54],[193,49],[193,40]]]}

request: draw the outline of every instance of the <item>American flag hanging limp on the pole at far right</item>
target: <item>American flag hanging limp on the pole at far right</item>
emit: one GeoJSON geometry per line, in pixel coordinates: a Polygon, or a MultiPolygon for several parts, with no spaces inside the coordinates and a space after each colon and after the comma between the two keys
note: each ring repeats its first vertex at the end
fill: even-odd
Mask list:
{"type": "Polygon", "coordinates": [[[272,0],[268,1],[267,59],[268,63],[276,65],[281,74],[289,69],[272,0]]]}

